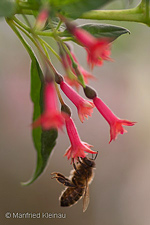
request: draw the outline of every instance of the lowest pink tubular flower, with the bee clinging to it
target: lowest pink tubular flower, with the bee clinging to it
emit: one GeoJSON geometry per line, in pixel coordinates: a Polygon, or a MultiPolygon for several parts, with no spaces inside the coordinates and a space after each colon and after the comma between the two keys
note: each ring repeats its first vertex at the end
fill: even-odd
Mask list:
{"type": "Polygon", "coordinates": [[[71,142],[71,146],[67,149],[65,156],[68,159],[71,158],[72,161],[78,160],[78,157],[84,158],[87,153],[96,154],[95,151],[92,151],[89,145],[86,142],[81,141],[79,134],[77,132],[77,128],[71,117],[65,119],[67,133],[71,142]],[[87,153],[85,153],[87,152],[87,153]]]}

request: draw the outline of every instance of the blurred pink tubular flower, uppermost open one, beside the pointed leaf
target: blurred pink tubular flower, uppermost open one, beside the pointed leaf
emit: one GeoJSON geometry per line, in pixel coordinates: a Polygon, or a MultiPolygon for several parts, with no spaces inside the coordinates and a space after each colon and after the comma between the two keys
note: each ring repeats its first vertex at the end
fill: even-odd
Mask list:
{"type": "Polygon", "coordinates": [[[103,60],[110,59],[110,40],[108,38],[95,38],[87,31],[74,27],[73,35],[87,50],[87,61],[93,68],[94,65],[101,66],[103,60]]]}

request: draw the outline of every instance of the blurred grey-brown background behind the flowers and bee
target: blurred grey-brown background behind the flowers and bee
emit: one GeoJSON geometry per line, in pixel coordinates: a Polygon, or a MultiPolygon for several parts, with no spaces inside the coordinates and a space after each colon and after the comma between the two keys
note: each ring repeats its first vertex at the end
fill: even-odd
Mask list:
{"type": "MultiPolygon", "coordinates": [[[[135,0],[128,5],[129,1],[114,1],[109,8],[133,7],[138,2],[135,0]]],[[[130,22],[104,22],[124,26],[131,34],[114,42],[113,62],[94,68],[96,79],[90,85],[117,116],[137,121],[137,124],[126,127],[128,133],[119,135],[109,144],[109,126],[99,112],[95,109],[92,117],[81,124],[76,108],[64,96],[72,108],[81,139],[99,151],[95,178],[90,185],[90,204],[83,213],[82,200],[71,208],[59,206],[58,198],[64,187],[51,180],[51,172],[69,176],[72,169],[63,157],[70,145],[66,131],[59,132],[43,175],[30,186],[21,186],[21,182],[31,178],[36,166],[29,126],[33,111],[30,59],[13,31],[0,20],[1,224],[150,224],[150,28],[130,22]],[[7,212],[62,213],[66,218],[6,219],[7,212]]],[[[56,48],[53,40],[49,39],[49,43],[56,48]]],[[[77,45],[74,51],[81,65],[88,69],[85,51],[77,45]]],[[[56,58],[53,63],[62,72],[56,58]]],[[[83,95],[82,90],[80,94],[83,95]]]]}

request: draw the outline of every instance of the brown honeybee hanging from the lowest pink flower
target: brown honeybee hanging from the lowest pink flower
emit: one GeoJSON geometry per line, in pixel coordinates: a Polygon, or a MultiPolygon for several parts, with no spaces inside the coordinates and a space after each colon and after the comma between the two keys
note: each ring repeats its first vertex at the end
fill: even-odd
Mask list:
{"type": "Polygon", "coordinates": [[[83,197],[83,212],[86,211],[89,205],[89,184],[94,177],[95,159],[78,158],[79,161],[76,164],[73,163],[74,169],[70,172],[69,178],[61,173],[51,173],[54,175],[52,179],[56,178],[59,183],[66,186],[59,197],[60,206],[72,206],[83,197]]]}

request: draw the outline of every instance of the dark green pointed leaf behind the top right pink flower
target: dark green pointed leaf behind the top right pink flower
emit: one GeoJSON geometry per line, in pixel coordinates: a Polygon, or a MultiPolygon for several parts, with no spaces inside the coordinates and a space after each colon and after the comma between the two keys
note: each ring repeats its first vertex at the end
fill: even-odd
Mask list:
{"type": "MultiPolygon", "coordinates": [[[[110,24],[88,23],[78,27],[88,31],[90,34],[92,34],[96,38],[107,37],[107,38],[110,38],[112,41],[118,38],[122,34],[130,33],[130,31],[124,27],[114,26],[110,24]]],[[[75,39],[67,30],[62,32],[60,36],[70,37],[72,41],[75,41],[75,39]]]]}

